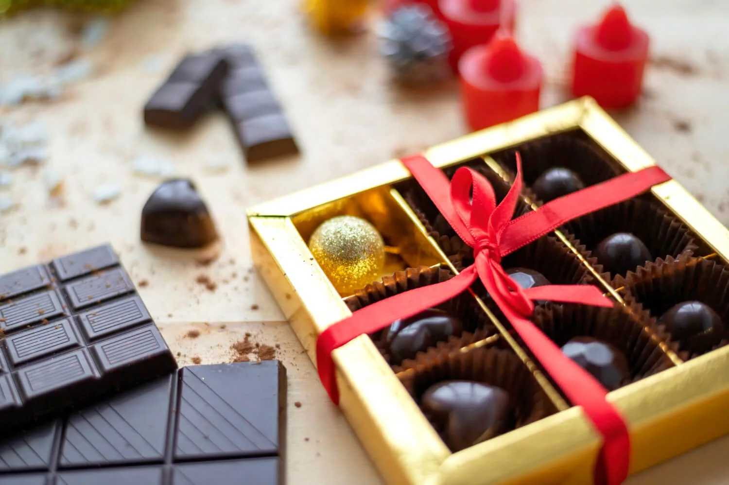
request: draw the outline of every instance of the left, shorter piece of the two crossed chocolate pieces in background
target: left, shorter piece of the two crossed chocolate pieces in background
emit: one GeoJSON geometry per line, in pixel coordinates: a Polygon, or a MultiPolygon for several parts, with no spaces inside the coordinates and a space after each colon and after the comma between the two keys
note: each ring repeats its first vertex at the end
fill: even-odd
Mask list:
{"type": "Polygon", "coordinates": [[[187,55],[144,106],[144,123],[190,128],[217,97],[227,64],[217,53],[187,55]]]}

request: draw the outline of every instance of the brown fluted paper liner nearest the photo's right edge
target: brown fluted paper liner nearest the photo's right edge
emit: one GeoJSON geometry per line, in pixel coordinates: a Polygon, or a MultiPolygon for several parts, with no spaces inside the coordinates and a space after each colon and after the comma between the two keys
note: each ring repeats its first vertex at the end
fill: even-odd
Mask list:
{"type": "MultiPolygon", "coordinates": [[[[612,284],[620,288],[625,301],[639,302],[650,312],[658,331],[666,335],[671,349],[683,360],[700,354],[681,349],[679,342],[670,341],[671,335],[663,325],[655,324],[671,306],[682,301],[698,300],[714,309],[725,326],[729,322],[729,268],[715,261],[688,255],[658,259],[655,263],[637,268],[636,272],[629,271],[625,277],[616,276],[612,284]]],[[[729,332],[714,349],[728,342],[729,332]]]]}

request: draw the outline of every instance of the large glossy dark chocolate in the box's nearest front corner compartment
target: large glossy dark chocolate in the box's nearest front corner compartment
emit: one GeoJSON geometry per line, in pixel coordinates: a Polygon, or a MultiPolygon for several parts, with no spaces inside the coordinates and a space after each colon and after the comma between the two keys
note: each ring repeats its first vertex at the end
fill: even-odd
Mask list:
{"type": "Polygon", "coordinates": [[[442,381],[424,392],[421,407],[452,451],[500,435],[509,427],[509,394],[475,381],[442,381]]]}

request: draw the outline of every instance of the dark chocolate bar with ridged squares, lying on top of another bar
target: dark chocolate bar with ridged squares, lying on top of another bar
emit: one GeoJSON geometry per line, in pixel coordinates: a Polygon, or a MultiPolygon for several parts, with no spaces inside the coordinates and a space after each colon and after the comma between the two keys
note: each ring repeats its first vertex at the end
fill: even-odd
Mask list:
{"type": "Polygon", "coordinates": [[[0,276],[0,430],[177,365],[108,244],[0,276]]]}

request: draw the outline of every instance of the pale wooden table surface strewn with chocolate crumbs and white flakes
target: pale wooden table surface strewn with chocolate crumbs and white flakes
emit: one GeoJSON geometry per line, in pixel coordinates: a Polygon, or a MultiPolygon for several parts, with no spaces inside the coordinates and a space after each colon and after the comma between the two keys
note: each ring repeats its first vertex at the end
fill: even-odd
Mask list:
{"type": "MultiPolygon", "coordinates": [[[[577,23],[596,18],[607,1],[522,0],[518,36],[542,59],[544,106],[566,99],[565,63],[577,23]]],[[[631,0],[650,31],[653,61],[639,105],[617,114],[625,129],[725,224],[729,222],[729,4],[723,0],[631,0]]],[[[93,61],[93,76],[56,101],[0,107],[15,124],[42,120],[50,131],[51,166],[65,178],[61,203],[42,182],[45,167],[12,171],[1,193],[18,204],[0,214],[0,269],[110,241],[174,350],[180,365],[230,362],[244,333],[279,344],[289,371],[289,484],[381,483],[346,420],[321,389],[313,365],[252,270],[245,210],[317,182],[416,152],[465,133],[455,83],[399,90],[375,52],[373,29],[332,42],[313,34],[295,0],[140,0],[109,22],[94,47],[79,40],[77,16],[29,12],[0,23],[0,82],[42,73],[74,54],[93,61]],[[303,148],[292,157],[246,166],[221,113],[188,133],[155,133],[141,107],[183,53],[250,42],[257,49],[303,148]],[[208,202],[222,235],[217,260],[147,247],[139,214],[160,182],[133,173],[133,159],[174,161],[208,202]],[[214,172],[211,160],[229,163],[214,172]],[[93,201],[99,185],[117,183],[119,198],[93,201]],[[217,284],[208,290],[199,276],[217,284]],[[189,330],[200,330],[190,338],[189,330]],[[300,403],[300,407],[294,405],[300,403]]],[[[677,439],[680,439],[677,436],[677,439]]],[[[644,484],[729,481],[729,438],[628,480],[644,484]]]]}

